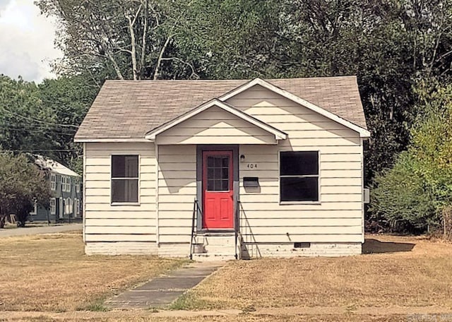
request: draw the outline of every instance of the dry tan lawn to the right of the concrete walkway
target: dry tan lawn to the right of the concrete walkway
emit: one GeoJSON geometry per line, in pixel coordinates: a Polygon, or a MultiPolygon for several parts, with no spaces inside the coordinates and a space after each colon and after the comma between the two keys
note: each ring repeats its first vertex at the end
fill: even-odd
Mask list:
{"type": "Polygon", "coordinates": [[[415,237],[368,236],[372,253],[342,258],[232,262],[184,300],[185,309],[282,306],[452,308],[452,245],[415,237]],[[225,287],[227,285],[227,287],[225,287]]]}

